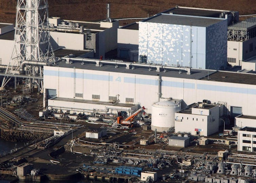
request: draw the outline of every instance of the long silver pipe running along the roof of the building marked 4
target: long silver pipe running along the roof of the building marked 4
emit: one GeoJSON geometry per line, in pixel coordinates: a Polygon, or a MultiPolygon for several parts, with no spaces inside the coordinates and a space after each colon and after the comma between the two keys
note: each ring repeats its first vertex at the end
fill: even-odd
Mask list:
{"type": "Polygon", "coordinates": [[[67,61],[78,61],[78,62],[92,62],[92,63],[105,63],[105,64],[115,64],[115,65],[125,65],[125,66],[138,66],[138,67],[147,67],[147,68],[161,68],[161,69],[175,69],[175,70],[184,70],[190,73],[191,68],[188,67],[171,67],[164,65],[155,65],[155,64],[139,64],[139,63],[130,63],[130,62],[118,62],[118,61],[108,61],[108,60],[97,60],[97,59],[86,59],[86,58],[67,58],[62,57],[61,59],[65,59],[67,61]]]}

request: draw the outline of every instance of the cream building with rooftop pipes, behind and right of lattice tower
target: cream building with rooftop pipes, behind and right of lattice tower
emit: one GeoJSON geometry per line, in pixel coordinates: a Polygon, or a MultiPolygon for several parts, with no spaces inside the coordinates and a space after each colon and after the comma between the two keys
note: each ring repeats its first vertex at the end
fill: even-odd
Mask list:
{"type": "Polygon", "coordinates": [[[93,50],[99,58],[117,48],[118,21],[81,22],[49,18],[53,49],[93,50]],[[57,25],[56,25],[57,24],[57,25]]]}

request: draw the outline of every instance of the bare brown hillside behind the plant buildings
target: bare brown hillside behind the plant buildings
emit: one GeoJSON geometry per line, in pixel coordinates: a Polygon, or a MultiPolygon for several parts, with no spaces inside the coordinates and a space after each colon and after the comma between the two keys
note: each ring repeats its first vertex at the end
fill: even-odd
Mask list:
{"type": "MultiPolygon", "coordinates": [[[[49,16],[68,20],[106,19],[106,3],[111,4],[111,18],[147,17],[176,5],[198,8],[236,10],[240,15],[256,14],[255,0],[48,0],[49,16]]],[[[17,0],[0,0],[0,22],[14,23],[17,0]]]]}

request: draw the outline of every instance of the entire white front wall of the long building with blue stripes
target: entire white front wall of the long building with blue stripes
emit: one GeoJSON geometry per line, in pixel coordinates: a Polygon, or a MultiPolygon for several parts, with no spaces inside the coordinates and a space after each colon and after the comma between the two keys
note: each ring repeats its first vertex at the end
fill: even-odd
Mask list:
{"type": "MultiPolygon", "coordinates": [[[[103,66],[104,67],[104,66],[103,66]]],[[[216,81],[161,77],[162,97],[183,99],[185,105],[201,102],[226,102],[242,107],[244,115],[255,115],[256,86],[216,81]]],[[[44,88],[56,89],[57,97],[73,98],[75,93],[83,93],[83,98],[92,100],[92,94],[100,95],[100,101],[119,94],[120,103],[125,98],[133,98],[133,104],[140,104],[151,113],[151,105],[158,101],[158,76],[129,74],[108,71],[83,70],[61,67],[44,67],[44,88]],[[74,87],[74,72],[75,87],[74,87]]]]}

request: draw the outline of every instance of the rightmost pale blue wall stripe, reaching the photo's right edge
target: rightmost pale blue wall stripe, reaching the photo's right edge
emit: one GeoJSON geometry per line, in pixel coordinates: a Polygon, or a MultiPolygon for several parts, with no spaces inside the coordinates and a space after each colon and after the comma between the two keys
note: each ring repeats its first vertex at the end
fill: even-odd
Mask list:
{"type": "Polygon", "coordinates": [[[250,89],[250,88],[238,88],[238,87],[197,84],[197,89],[256,95],[256,89],[250,89]]]}

